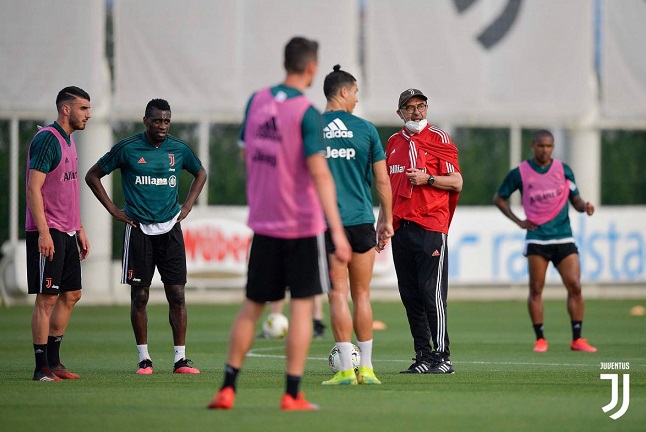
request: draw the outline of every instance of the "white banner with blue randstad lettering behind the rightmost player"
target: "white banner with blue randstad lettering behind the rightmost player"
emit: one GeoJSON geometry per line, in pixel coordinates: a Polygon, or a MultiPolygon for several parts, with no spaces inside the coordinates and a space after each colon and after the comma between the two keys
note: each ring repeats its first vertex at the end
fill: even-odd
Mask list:
{"type": "MultiPolygon", "coordinates": [[[[514,208],[514,212],[523,215],[522,208],[514,208]]],[[[646,281],[645,217],[645,207],[597,208],[593,216],[570,209],[583,282],[646,281]]],[[[525,231],[495,207],[458,206],[449,233],[452,283],[525,283],[524,245],[525,231]]],[[[551,265],[547,281],[560,283],[551,265]]]]}

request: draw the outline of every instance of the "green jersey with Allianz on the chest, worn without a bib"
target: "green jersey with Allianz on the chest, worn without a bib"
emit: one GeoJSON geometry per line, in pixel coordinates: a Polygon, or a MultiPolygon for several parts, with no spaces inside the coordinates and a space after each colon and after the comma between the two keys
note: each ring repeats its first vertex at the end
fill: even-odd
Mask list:
{"type": "Polygon", "coordinates": [[[180,212],[179,175],[182,169],[193,175],[202,162],[184,141],[172,135],[159,147],[152,145],[146,133],[119,141],[99,159],[105,174],[121,170],[121,187],[126,200],[126,214],[144,224],[171,220],[180,212]]]}

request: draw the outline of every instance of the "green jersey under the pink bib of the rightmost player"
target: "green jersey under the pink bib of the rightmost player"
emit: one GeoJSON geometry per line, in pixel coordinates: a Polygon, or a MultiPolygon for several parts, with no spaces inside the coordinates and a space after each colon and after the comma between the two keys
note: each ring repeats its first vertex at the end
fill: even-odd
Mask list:
{"type": "MultiPolygon", "coordinates": [[[[541,167],[533,159],[529,159],[529,165],[532,169],[538,173],[547,172],[552,164],[550,163],[546,167],[541,167]]],[[[576,182],[574,180],[574,173],[572,169],[565,163],[563,163],[563,171],[565,172],[565,178],[570,181],[570,197],[579,194],[579,189],[576,187],[576,182]]],[[[522,194],[523,182],[520,176],[520,169],[514,168],[509,171],[505,180],[502,182],[502,185],[498,188],[498,195],[502,198],[509,198],[514,191],[519,190],[522,194]]],[[[549,241],[549,240],[558,240],[563,238],[572,237],[572,227],[570,226],[570,216],[569,216],[570,205],[569,201],[565,203],[561,211],[556,215],[554,219],[549,222],[540,225],[534,231],[527,231],[525,236],[528,242],[534,241],[549,241]]]]}

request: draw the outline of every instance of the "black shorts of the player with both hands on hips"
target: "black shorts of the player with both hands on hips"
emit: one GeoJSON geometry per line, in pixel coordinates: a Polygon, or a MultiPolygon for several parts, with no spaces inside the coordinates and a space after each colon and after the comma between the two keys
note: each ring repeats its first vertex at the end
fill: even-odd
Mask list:
{"type": "Polygon", "coordinates": [[[155,267],[164,285],[186,284],[186,250],[182,227],[176,223],[164,234],[147,235],[126,225],[121,260],[121,283],[150,286],[155,267]]]}

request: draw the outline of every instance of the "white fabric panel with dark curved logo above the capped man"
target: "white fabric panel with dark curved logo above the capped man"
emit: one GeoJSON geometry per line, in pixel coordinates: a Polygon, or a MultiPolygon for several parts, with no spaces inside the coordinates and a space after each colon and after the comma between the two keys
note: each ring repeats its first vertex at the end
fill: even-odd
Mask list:
{"type": "Polygon", "coordinates": [[[368,118],[392,119],[408,87],[429,97],[440,122],[574,123],[594,106],[591,1],[368,6],[368,118]]]}

